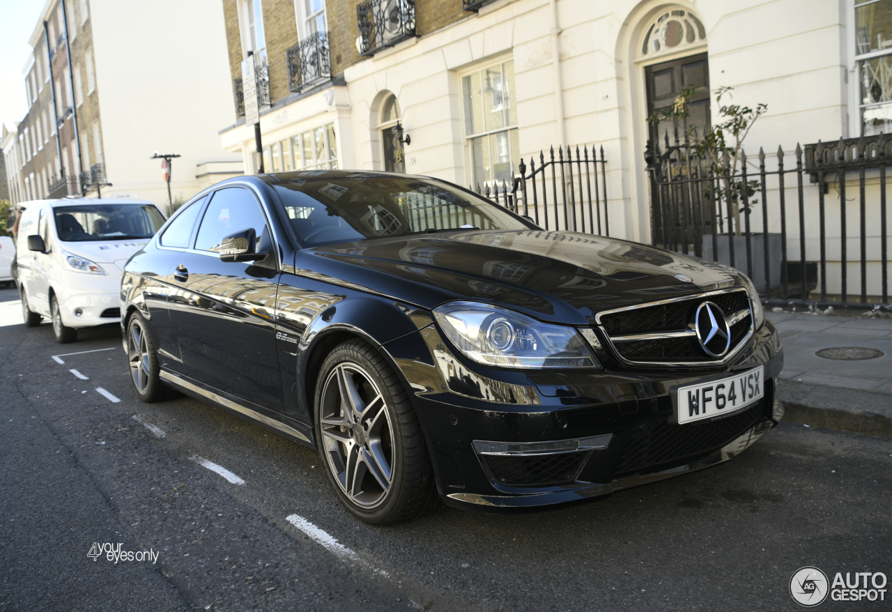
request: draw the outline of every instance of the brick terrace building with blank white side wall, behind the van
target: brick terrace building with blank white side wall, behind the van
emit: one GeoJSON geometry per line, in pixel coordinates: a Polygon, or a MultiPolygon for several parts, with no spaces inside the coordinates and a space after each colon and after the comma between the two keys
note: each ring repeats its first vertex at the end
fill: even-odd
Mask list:
{"type": "Polygon", "coordinates": [[[155,151],[182,155],[174,198],[241,174],[215,134],[230,113],[222,27],[214,0],[47,0],[23,69],[29,110],[4,139],[13,201],[101,190],[167,203],[155,151]]]}

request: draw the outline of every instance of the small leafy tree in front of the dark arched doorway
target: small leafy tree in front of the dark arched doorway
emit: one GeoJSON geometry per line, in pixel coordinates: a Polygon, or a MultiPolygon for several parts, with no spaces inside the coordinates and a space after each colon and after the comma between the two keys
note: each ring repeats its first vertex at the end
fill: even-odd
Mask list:
{"type": "MultiPolygon", "coordinates": [[[[715,197],[720,203],[723,199],[731,200],[735,233],[739,235],[740,213],[748,212],[750,206],[758,203],[758,198],[753,195],[759,188],[758,181],[750,180],[745,183],[736,176],[738,165],[742,165],[745,157],[743,141],[756,120],[768,111],[768,104],[758,103],[755,109],[739,104],[723,105],[723,96],[731,97],[732,89],[733,87],[719,87],[716,90],[715,104],[719,108],[719,121],[710,129],[703,128],[702,134],[697,126],[688,125],[690,101],[697,93],[697,87],[693,85],[682,90],[671,108],[653,113],[648,121],[658,124],[668,120],[676,128],[681,124],[681,133],[690,140],[690,152],[699,159],[706,160],[714,176],[722,178],[722,186],[707,190],[707,195],[715,197]]],[[[719,222],[724,225],[722,219],[720,215],[719,222]]]]}

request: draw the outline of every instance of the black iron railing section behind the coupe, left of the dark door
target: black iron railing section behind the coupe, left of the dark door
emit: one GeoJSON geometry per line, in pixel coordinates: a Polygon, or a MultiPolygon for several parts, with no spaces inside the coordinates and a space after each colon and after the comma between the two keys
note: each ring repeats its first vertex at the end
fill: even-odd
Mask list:
{"type": "Polygon", "coordinates": [[[527,166],[522,159],[511,185],[503,180],[490,181],[471,188],[517,214],[529,217],[537,225],[554,231],[610,236],[607,217],[607,158],[595,145],[558,147],[555,157],[539,153],[539,165],[531,157],[527,166]],[[600,175],[599,175],[600,172],[600,175]],[[549,177],[550,175],[550,177],[549,177]]]}

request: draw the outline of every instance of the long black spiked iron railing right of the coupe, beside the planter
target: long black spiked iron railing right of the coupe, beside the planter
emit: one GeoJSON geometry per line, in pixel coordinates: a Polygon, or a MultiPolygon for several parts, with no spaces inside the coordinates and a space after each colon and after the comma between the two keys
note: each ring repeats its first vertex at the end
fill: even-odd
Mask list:
{"type": "Polygon", "coordinates": [[[778,147],[774,169],[766,168],[772,156],[762,149],[756,161],[741,151],[737,171],[727,155],[717,165],[699,158],[687,138],[682,143],[676,135],[670,145],[666,134],[664,144],[661,150],[648,141],[645,153],[653,244],[728,263],[778,304],[888,304],[887,136],[819,142],[805,152],[778,147]],[[846,191],[855,172],[853,198],[846,191]],[[807,188],[805,177],[817,188],[807,188]],[[856,257],[849,254],[853,244],[856,257]],[[850,264],[860,276],[854,295],[850,264]]]}

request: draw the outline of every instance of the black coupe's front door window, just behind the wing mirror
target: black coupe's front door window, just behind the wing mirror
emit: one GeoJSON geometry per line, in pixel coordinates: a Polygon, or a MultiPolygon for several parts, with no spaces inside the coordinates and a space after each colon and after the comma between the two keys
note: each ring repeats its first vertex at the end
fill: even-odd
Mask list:
{"type": "MultiPolygon", "coordinates": [[[[267,227],[260,204],[253,194],[241,187],[227,187],[213,194],[202,225],[198,228],[195,248],[219,252],[223,238],[243,229],[254,228],[257,240],[267,227]]],[[[256,244],[255,244],[256,246],[256,244]]]]}

